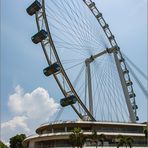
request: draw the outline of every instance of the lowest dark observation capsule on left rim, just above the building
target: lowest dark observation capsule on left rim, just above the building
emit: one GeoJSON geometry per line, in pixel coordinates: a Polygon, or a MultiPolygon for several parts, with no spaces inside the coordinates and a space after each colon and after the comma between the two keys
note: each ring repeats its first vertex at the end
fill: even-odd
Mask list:
{"type": "Polygon", "coordinates": [[[74,95],[71,95],[69,97],[66,97],[60,100],[60,104],[62,107],[75,104],[76,102],[77,102],[77,99],[74,95]]]}

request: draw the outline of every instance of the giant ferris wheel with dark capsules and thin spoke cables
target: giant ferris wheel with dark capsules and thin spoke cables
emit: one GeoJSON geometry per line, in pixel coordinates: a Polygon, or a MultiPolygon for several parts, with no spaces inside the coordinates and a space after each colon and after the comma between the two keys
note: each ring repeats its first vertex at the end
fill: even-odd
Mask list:
{"type": "Polygon", "coordinates": [[[28,8],[35,15],[48,65],[64,98],[82,120],[138,120],[133,83],[109,25],[91,0],[40,0],[28,8]]]}

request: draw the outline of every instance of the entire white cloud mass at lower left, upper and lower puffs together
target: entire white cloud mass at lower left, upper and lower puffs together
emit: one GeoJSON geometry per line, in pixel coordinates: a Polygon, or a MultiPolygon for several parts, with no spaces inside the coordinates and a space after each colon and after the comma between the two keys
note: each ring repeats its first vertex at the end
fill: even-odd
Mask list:
{"type": "Polygon", "coordinates": [[[59,109],[59,104],[41,87],[24,93],[17,86],[14,94],[9,96],[8,106],[14,117],[2,123],[2,140],[5,142],[19,133],[33,134],[41,123],[47,122],[59,109]]]}

